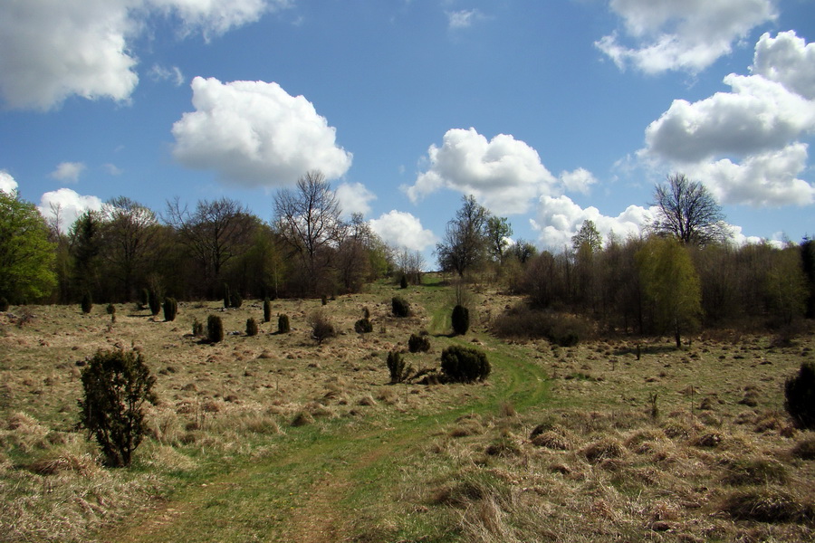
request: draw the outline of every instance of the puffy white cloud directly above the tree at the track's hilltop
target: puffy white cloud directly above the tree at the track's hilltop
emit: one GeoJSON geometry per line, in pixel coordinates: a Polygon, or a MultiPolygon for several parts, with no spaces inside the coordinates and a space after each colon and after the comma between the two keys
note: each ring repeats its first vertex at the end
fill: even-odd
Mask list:
{"type": "Polygon", "coordinates": [[[496,214],[521,214],[557,183],[537,151],[511,135],[487,141],[475,129],[450,129],[442,146],[431,145],[427,156],[430,167],[405,189],[414,203],[449,188],[475,195],[496,214]]]}

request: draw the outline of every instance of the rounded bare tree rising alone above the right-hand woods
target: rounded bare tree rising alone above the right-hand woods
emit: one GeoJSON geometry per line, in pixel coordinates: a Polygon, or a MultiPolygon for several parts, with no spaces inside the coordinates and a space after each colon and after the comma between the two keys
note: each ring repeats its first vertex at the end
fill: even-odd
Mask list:
{"type": "Polygon", "coordinates": [[[671,235],[682,243],[706,245],[730,237],[722,207],[704,185],[690,181],[685,174],[667,177],[667,183],[654,191],[658,208],[651,224],[656,233],[671,235]]]}

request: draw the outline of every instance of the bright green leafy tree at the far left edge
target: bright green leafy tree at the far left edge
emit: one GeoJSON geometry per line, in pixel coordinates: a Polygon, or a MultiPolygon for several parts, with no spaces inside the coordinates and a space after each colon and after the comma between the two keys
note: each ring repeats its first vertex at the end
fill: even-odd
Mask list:
{"type": "Polygon", "coordinates": [[[0,297],[14,303],[51,293],[56,276],[48,234],[34,204],[0,191],[0,297]]]}

